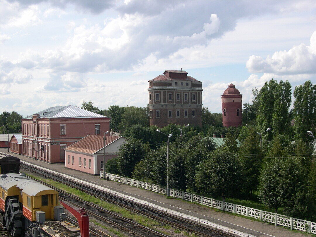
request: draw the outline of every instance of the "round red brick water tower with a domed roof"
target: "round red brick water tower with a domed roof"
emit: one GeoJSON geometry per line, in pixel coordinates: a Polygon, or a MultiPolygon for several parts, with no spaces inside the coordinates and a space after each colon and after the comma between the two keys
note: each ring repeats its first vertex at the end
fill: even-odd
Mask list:
{"type": "Polygon", "coordinates": [[[238,127],[242,125],[242,94],[230,84],[222,94],[222,117],[224,127],[238,127]]]}

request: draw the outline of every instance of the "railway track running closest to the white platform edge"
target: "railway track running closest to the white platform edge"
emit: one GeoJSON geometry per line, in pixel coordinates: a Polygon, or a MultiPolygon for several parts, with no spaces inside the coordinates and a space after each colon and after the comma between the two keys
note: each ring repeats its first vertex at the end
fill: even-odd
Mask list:
{"type": "Polygon", "coordinates": [[[116,204],[116,205],[119,205],[119,206],[124,207],[126,209],[133,210],[137,213],[149,216],[151,218],[155,218],[159,221],[166,222],[168,224],[176,226],[177,228],[181,228],[181,229],[196,233],[196,234],[201,235],[201,236],[235,237],[235,235],[224,233],[220,230],[213,229],[210,227],[205,227],[201,224],[191,222],[191,221],[186,220],[184,218],[181,218],[178,216],[173,216],[173,215],[167,214],[167,213],[159,211],[159,210],[155,210],[153,208],[150,208],[150,207],[142,205],[142,204],[134,203],[134,202],[126,200],[124,198],[117,197],[111,193],[107,193],[105,191],[100,191],[100,190],[93,188],[91,186],[77,183],[75,181],[65,179],[61,176],[55,176],[54,174],[46,172],[45,170],[41,170],[40,168],[36,168],[36,167],[29,166],[27,164],[22,164],[22,163],[21,163],[21,168],[29,170],[33,173],[38,174],[39,176],[47,178],[47,179],[52,179],[52,180],[55,180],[57,182],[68,185],[70,187],[79,189],[79,190],[84,191],[84,192],[86,192],[94,197],[98,197],[98,198],[105,200],[107,202],[110,202],[112,204],[116,204]]]}

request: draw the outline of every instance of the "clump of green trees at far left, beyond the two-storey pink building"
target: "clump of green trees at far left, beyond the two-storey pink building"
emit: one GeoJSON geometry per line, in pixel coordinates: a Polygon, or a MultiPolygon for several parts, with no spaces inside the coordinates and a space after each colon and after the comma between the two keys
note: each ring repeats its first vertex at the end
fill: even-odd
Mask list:
{"type": "Polygon", "coordinates": [[[0,114],[0,133],[7,133],[7,127],[9,127],[9,133],[20,133],[22,130],[21,127],[22,115],[17,112],[4,111],[0,114]],[[7,127],[3,127],[5,125],[7,127]]]}

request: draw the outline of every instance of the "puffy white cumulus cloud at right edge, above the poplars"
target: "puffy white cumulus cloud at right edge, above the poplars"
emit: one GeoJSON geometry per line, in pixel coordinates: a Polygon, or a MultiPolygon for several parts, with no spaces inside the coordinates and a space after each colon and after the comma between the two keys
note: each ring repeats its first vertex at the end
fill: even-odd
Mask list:
{"type": "Polygon", "coordinates": [[[246,63],[250,72],[287,74],[316,74],[316,31],[310,38],[310,45],[294,46],[289,51],[278,51],[266,59],[252,55],[246,63]]]}

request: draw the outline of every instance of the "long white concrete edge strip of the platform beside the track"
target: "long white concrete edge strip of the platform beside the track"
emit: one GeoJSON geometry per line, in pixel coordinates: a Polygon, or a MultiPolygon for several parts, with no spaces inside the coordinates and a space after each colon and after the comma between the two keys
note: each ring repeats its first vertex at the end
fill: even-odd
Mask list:
{"type": "MultiPolygon", "coordinates": [[[[56,171],[52,171],[52,170],[49,170],[49,169],[47,169],[47,168],[34,165],[34,164],[29,163],[29,162],[27,162],[27,161],[22,161],[22,160],[21,160],[21,163],[26,163],[27,165],[30,165],[30,166],[33,166],[33,167],[39,167],[39,168],[41,168],[41,169],[43,169],[43,170],[45,170],[45,171],[47,171],[47,172],[61,175],[61,176],[65,177],[65,178],[67,178],[67,179],[71,179],[71,180],[74,180],[74,181],[76,181],[76,182],[80,182],[80,183],[85,184],[85,185],[93,186],[94,188],[99,189],[99,190],[101,190],[101,191],[106,191],[106,192],[113,193],[113,194],[115,194],[115,195],[117,195],[117,196],[119,196],[119,197],[123,197],[123,198],[129,199],[129,200],[134,201],[134,202],[136,202],[136,203],[143,204],[143,205],[147,205],[147,206],[149,206],[149,207],[153,207],[153,208],[155,208],[155,209],[158,209],[158,210],[167,212],[167,213],[169,213],[169,214],[173,214],[173,215],[176,215],[176,216],[180,216],[180,217],[183,217],[183,218],[186,218],[186,219],[189,219],[189,220],[193,220],[193,221],[196,221],[196,222],[198,222],[198,223],[201,223],[201,224],[204,224],[204,225],[213,227],[213,228],[217,228],[217,229],[219,229],[219,230],[222,230],[222,231],[224,231],[224,232],[227,232],[228,234],[235,234],[235,235],[238,235],[238,236],[240,236],[240,237],[257,237],[257,236],[252,235],[252,234],[248,234],[248,233],[241,232],[241,231],[238,231],[238,230],[235,230],[235,229],[232,229],[232,228],[228,228],[228,227],[225,227],[225,226],[222,226],[222,225],[218,225],[218,224],[213,223],[213,222],[210,222],[210,221],[208,221],[208,220],[204,220],[204,219],[197,218],[197,217],[194,217],[194,216],[189,216],[189,215],[186,215],[186,214],[181,213],[181,212],[177,212],[177,211],[174,211],[174,210],[165,208],[165,207],[161,207],[161,206],[152,204],[152,203],[150,203],[150,202],[147,202],[147,201],[144,201],[144,200],[135,198],[135,197],[131,197],[131,196],[125,195],[125,194],[123,194],[123,193],[120,193],[120,192],[117,192],[117,191],[113,191],[113,190],[111,190],[111,189],[108,189],[108,188],[105,188],[105,187],[102,187],[102,186],[99,186],[99,185],[95,185],[95,184],[86,182],[86,181],[81,180],[81,179],[74,178],[74,177],[69,176],[69,175],[66,175],[66,174],[64,174],[64,173],[58,173],[58,172],[56,172],[56,171]]],[[[230,223],[230,224],[234,225],[233,223],[230,223]]]]}

